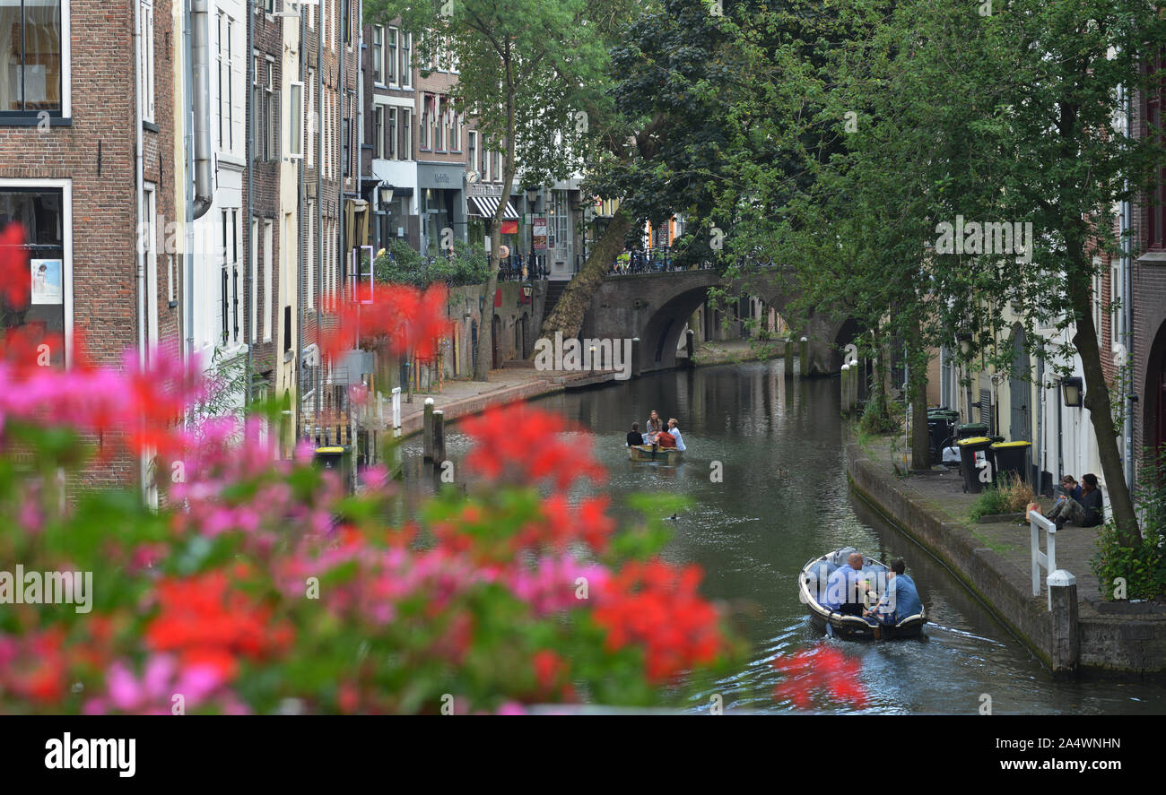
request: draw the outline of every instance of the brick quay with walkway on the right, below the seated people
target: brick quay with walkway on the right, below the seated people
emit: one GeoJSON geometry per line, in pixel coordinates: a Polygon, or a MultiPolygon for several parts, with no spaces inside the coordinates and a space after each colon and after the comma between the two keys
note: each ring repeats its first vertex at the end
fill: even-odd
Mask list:
{"type": "Polygon", "coordinates": [[[1047,591],[1032,596],[1028,527],[972,522],[975,495],[962,493],[958,472],[902,477],[892,455],[885,438],[848,444],[855,492],[955,574],[1049,669],[1166,674],[1166,608],[1101,598],[1089,565],[1094,528],[1070,525],[1058,533],[1056,563],[1076,577],[1077,615],[1075,627],[1072,619],[1054,627],[1047,591]],[[1076,636],[1075,660],[1066,653],[1067,634],[1076,636]]]}

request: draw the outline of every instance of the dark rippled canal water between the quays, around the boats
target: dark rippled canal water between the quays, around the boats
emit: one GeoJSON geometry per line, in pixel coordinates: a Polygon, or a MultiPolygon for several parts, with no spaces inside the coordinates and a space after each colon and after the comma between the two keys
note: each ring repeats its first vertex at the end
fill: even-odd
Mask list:
{"type": "MultiPolygon", "coordinates": [[[[707,710],[714,694],[725,709],[791,711],[773,698],[781,675],[771,661],[828,643],[858,661],[865,712],[974,715],[985,694],[996,715],[1166,712],[1161,682],[1054,680],[954,575],[850,493],[837,379],[785,379],[781,361],[750,363],[660,373],[538,404],[586,429],[610,473],[603,491],[617,504],[653,491],[690,498],[690,508],[669,521],[665,557],[700,564],[704,595],[732,605],[751,643],[739,670],[698,683],[693,711],[707,710]],[[683,464],[627,459],[624,436],[633,421],[642,428],[652,409],[679,420],[683,464]],[[712,462],[723,466],[721,483],[710,478],[712,462]],[[798,574],[844,546],[883,561],[905,558],[927,607],[925,638],[863,643],[814,631],[798,599],[798,574]]],[[[457,466],[469,439],[456,424],[447,446],[457,466]]],[[[428,493],[434,479],[420,465],[419,437],[405,453],[407,491],[428,493]]]]}

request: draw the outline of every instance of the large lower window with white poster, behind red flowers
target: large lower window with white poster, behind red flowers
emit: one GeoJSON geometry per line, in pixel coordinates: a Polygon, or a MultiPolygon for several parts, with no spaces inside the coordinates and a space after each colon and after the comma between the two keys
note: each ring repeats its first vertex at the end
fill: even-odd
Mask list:
{"type": "Polygon", "coordinates": [[[12,221],[24,227],[31,289],[28,304],[19,310],[0,294],[0,328],[37,328],[49,346],[50,363],[63,366],[66,262],[62,189],[0,185],[0,228],[12,221]]]}

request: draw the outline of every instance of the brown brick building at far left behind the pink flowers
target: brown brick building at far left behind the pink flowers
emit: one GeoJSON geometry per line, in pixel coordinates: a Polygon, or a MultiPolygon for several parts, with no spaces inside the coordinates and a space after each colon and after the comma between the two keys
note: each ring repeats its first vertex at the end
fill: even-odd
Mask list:
{"type": "Polygon", "coordinates": [[[23,224],[35,268],[31,305],[0,322],[40,324],[58,366],[78,333],[98,363],[178,333],[171,19],[169,0],[0,2],[0,224],[23,224]]]}

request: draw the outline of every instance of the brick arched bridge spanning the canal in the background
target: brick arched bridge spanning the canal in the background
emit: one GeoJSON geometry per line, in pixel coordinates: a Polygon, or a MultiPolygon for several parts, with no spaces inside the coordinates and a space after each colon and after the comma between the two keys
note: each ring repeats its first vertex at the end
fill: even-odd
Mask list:
{"type": "MultiPolygon", "coordinates": [[[[689,317],[708,298],[712,287],[756,296],[779,315],[798,296],[788,270],[772,268],[751,274],[738,284],[728,284],[714,269],[612,275],[604,279],[591,297],[581,337],[624,339],[639,337],[639,372],[676,366],[676,346],[689,317]]],[[[855,324],[844,315],[812,311],[794,338],[809,339],[810,374],[838,372],[840,349],[855,335],[855,324]]]]}

